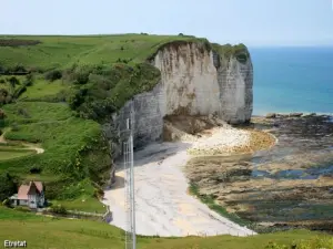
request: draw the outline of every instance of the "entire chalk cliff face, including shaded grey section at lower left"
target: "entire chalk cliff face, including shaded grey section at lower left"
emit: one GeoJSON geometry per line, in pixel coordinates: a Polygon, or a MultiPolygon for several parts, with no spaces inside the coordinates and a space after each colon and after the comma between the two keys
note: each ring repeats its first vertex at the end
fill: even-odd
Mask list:
{"type": "Polygon", "coordinates": [[[134,111],[134,138],[140,146],[161,137],[165,115],[215,114],[232,124],[250,121],[253,69],[250,56],[223,56],[201,43],[171,43],[151,62],[161,82],[138,94],[113,116],[123,136],[125,120],[134,111]]]}

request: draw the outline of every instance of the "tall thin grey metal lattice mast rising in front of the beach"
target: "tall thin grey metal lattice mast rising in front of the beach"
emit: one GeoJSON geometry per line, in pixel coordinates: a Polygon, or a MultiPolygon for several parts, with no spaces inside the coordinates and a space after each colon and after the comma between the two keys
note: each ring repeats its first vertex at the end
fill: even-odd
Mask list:
{"type": "Polygon", "coordinates": [[[125,189],[125,211],[127,211],[125,249],[137,248],[133,123],[134,123],[134,112],[133,112],[133,103],[132,103],[130,118],[127,120],[127,132],[129,133],[129,136],[123,143],[124,189],[125,189]]]}

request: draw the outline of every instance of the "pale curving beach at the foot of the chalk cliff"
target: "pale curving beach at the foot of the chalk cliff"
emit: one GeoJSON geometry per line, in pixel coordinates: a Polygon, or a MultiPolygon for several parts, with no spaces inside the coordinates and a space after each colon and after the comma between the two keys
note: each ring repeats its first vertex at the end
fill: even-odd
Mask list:
{"type": "MultiPolygon", "coordinates": [[[[231,141],[230,137],[216,139],[231,141]]],[[[210,141],[216,144],[216,139],[210,141]]],[[[196,143],[152,144],[134,154],[137,234],[164,237],[254,235],[252,230],[221,217],[186,194],[189,185],[182,166],[190,158],[186,149],[193,145],[196,143]]],[[[124,229],[124,173],[121,162],[118,163],[118,167],[120,170],[117,173],[115,184],[105,190],[103,203],[109,205],[113,212],[111,224],[124,229]]]]}

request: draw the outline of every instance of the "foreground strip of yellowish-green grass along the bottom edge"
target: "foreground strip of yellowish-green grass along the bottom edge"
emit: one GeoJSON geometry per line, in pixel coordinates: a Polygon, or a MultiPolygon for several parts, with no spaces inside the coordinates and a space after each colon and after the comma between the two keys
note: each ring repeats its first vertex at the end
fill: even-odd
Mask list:
{"type": "MultiPolygon", "coordinates": [[[[8,240],[26,240],[28,247],[33,249],[119,249],[124,247],[123,230],[108,224],[50,218],[14,211],[4,207],[0,207],[0,235],[8,240]],[[13,234],[12,231],[16,232],[13,234]]],[[[139,249],[332,249],[332,237],[325,234],[306,230],[251,237],[214,236],[203,238],[192,236],[185,238],[160,238],[138,236],[139,249]],[[282,247],[283,245],[286,246],[282,247]]]]}

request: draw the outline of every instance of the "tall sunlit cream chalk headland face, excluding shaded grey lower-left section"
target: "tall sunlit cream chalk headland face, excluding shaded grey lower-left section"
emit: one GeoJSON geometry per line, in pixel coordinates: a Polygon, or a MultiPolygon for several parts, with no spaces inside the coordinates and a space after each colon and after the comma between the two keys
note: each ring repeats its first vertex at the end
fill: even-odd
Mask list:
{"type": "Polygon", "coordinates": [[[163,116],[216,114],[233,124],[251,118],[251,60],[225,59],[200,43],[185,43],[159,51],[154,65],[162,76],[163,116]]]}

